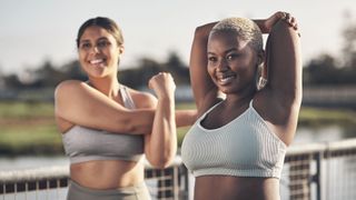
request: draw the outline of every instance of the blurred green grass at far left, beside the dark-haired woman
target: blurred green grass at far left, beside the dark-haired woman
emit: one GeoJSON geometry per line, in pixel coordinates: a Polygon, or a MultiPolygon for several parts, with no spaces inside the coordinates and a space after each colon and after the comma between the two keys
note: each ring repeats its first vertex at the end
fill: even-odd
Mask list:
{"type": "Polygon", "coordinates": [[[0,156],[63,153],[53,104],[0,103],[0,156]]]}

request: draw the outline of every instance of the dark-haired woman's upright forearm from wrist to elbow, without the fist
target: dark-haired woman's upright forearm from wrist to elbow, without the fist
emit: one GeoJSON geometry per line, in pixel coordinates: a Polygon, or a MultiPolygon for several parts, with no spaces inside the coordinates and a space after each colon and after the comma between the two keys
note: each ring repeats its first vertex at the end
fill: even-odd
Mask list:
{"type": "Polygon", "coordinates": [[[177,152],[177,131],[174,99],[159,99],[152,124],[152,133],[148,137],[147,159],[154,167],[167,167],[177,152]]]}

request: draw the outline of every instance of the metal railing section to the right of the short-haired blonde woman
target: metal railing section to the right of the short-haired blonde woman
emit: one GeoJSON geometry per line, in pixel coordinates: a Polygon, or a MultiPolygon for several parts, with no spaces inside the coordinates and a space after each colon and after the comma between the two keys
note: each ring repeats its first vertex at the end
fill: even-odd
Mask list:
{"type": "Polygon", "coordinates": [[[281,176],[281,199],[356,199],[356,139],[291,146],[281,176]]]}

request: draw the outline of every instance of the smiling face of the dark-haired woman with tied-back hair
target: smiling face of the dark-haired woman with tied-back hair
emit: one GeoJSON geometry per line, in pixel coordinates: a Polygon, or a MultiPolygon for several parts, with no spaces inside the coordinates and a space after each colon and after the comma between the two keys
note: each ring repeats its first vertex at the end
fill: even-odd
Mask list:
{"type": "Polygon", "coordinates": [[[79,61],[89,77],[103,78],[116,76],[123,46],[106,29],[90,26],[78,39],[79,61]]]}

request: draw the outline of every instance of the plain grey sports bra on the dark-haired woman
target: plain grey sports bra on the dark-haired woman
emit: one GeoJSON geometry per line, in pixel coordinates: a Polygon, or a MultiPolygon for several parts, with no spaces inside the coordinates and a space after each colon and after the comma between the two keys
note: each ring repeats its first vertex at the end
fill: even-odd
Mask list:
{"type": "MultiPolygon", "coordinates": [[[[120,86],[126,108],[135,109],[134,100],[126,87],[120,86]]],[[[75,126],[62,134],[62,142],[70,163],[91,160],[138,161],[144,154],[144,137],[112,133],[75,126]]]]}

